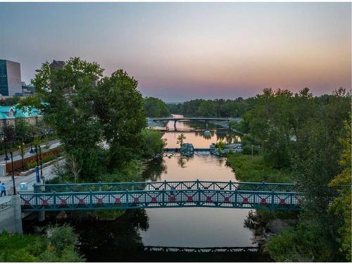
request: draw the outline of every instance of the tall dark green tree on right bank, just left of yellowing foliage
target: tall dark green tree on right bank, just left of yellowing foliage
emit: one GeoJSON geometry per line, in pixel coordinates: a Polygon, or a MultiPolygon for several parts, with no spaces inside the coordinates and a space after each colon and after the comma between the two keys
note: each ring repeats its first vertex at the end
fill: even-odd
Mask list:
{"type": "Polygon", "coordinates": [[[306,120],[297,133],[295,177],[306,192],[306,208],[321,218],[327,217],[329,201],[336,195],[328,184],[341,170],[343,145],[337,139],[345,137],[344,122],[348,120],[349,109],[348,95],[334,92],[317,118],[306,120]]]}

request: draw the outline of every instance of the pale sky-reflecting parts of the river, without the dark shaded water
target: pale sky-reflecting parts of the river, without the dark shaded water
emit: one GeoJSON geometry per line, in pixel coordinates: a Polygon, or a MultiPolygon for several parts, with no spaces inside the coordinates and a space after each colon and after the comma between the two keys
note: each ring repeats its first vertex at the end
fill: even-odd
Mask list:
{"type": "MultiPolygon", "coordinates": [[[[173,122],[168,122],[173,129],[173,122]]],[[[212,130],[210,137],[204,137],[203,131],[191,132],[194,127],[204,129],[202,122],[177,122],[178,131],[166,132],[168,148],[175,148],[177,136],[182,132],[186,139],[196,148],[208,148],[220,139],[240,141],[237,136],[226,132],[212,130]]],[[[212,128],[209,126],[209,129],[212,128]]],[[[220,130],[221,131],[221,130],[220,130]]],[[[156,163],[158,175],[146,170],[146,180],[208,180],[234,181],[234,172],[225,165],[225,158],[212,156],[209,153],[195,153],[193,157],[184,158],[180,154],[166,153],[162,163],[156,163]]],[[[151,168],[153,166],[151,165],[151,168]]],[[[144,245],[153,246],[256,246],[252,244],[252,232],[244,227],[244,219],[249,210],[230,208],[164,208],[146,209],[149,218],[148,230],[141,232],[144,245]]]]}

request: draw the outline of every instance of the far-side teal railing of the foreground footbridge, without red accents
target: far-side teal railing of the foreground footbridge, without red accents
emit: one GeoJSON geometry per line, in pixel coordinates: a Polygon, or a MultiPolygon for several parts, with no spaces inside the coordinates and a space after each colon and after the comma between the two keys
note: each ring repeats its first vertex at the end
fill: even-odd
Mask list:
{"type": "Polygon", "coordinates": [[[245,191],[296,191],[296,184],[265,182],[99,182],[80,184],[34,184],[34,192],[69,192],[69,191],[130,191],[134,190],[168,190],[168,189],[214,189],[245,191]]]}

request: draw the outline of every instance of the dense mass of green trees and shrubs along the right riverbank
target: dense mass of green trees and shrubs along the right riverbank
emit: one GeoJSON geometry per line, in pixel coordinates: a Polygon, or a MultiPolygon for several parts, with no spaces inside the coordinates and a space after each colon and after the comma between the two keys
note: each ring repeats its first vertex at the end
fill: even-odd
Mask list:
{"type": "MultiPolygon", "coordinates": [[[[351,260],[350,111],[344,89],[320,97],[309,89],[264,89],[242,115],[237,129],[262,151],[227,158],[239,180],[296,182],[306,193],[297,219],[268,239],[266,248],[277,261],[351,260]]],[[[275,217],[254,215],[258,222],[275,217]]]]}

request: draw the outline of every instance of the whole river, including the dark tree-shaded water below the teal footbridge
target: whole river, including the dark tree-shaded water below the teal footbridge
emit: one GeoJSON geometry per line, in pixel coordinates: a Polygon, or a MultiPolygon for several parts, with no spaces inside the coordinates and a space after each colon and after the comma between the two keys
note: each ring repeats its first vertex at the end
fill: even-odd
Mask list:
{"type": "MultiPolygon", "coordinates": [[[[205,136],[202,122],[166,124],[170,131],[163,134],[168,148],[175,148],[177,136],[184,133],[184,142],[196,148],[208,148],[218,140],[240,141],[236,135],[209,125],[210,136],[205,136]],[[194,131],[196,130],[196,131],[194,131]]],[[[214,180],[235,181],[225,158],[210,153],[194,153],[189,158],[178,153],[165,153],[160,161],[146,164],[144,180],[214,180]]],[[[247,247],[253,244],[253,233],[244,227],[249,210],[233,208],[156,208],[129,210],[118,220],[72,222],[80,235],[80,251],[87,261],[265,261],[260,253],[145,253],[143,246],[179,247],[247,247]]],[[[46,223],[53,222],[46,220],[46,223]]]]}

